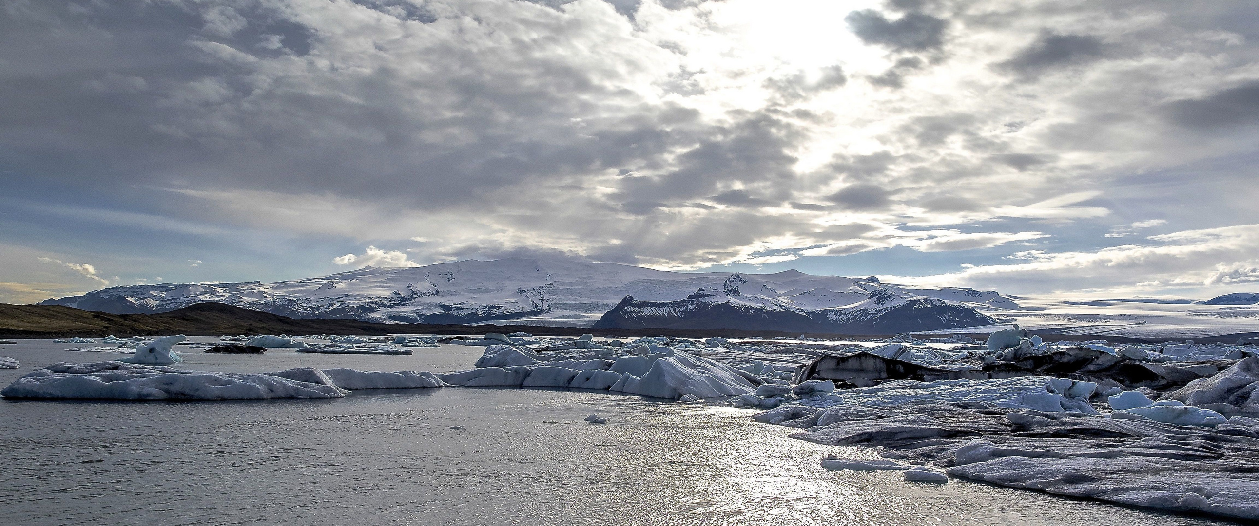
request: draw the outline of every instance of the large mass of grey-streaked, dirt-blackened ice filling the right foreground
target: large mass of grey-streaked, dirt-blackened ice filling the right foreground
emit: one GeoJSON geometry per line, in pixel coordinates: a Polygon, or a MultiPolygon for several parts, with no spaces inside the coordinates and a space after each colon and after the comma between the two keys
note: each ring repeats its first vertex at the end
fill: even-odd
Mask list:
{"type": "Polygon", "coordinates": [[[886,380],[874,386],[836,389],[836,384],[852,383],[811,376],[810,371],[837,374],[817,367],[815,360],[801,369],[805,376],[798,375],[796,385],[764,384],[729,401],[767,408],[753,417],[759,422],[807,430],[796,438],[884,447],[880,454],[895,461],[823,461],[833,469],[900,468],[912,482],[944,482],[952,476],[1134,506],[1259,518],[1254,498],[1259,472],[1253,468],[1259,462],[1259,420],[1251,418],[1259,417],[1259,396],[1254,396],[1259,357],[1253,356],[1253,347],[1046,344],[1015,330],[993,335],[992,345],[983,349],[898,340],[827,352],[850,356],[840,359],[840,365],[865,360],[886,367],[878,376],[886,380]],[[889,371],[891,378],[922,376],[914,367],[969,374],[940,365],[977,362],[991,376],[1020,376],[888,379],[889,371]],[[1147,383],[1162,391],[1115,388],[1113,380],[1100,389],[1093,381],[1053,374],[1147,383]],[[948,474],[906,462],[947,468],[948,474]]]}

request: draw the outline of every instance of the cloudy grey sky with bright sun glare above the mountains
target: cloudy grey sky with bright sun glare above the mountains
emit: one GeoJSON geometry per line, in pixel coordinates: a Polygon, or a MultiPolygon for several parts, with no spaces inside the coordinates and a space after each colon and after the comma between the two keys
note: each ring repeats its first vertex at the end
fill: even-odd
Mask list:
{"type": "Polygon", "coordinates": [[[1259,3],[8,0],[0,302],[509,255],[1259,291],[1259,3]]]}

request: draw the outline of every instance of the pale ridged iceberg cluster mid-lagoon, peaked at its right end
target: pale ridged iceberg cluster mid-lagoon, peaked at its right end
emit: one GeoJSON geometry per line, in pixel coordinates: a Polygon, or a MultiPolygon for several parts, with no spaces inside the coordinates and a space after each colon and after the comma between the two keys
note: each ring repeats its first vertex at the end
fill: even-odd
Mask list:
{"type": "MultiPolygon", "coordinates": [[[[578,341],[589,344],[592,340],[578,341]]],[[[675,400],[687,395],[704,399],[749,394],[765,381],[750,372],[655,342],[621,349],[589,344],[575,350],[546,352],[494,345],[485,350],[476,367],[439,378],[460,386],[602,389],[675,400]]]]}

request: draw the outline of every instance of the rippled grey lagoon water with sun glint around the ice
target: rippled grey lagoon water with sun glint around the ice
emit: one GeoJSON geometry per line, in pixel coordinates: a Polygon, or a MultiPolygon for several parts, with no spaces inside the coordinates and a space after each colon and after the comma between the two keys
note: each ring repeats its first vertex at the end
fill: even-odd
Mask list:
{"type": "MultiPolygon", "coordinates": [[[[194,339],[198,340],[198,339],[194,339]]],[[[110,354],[5,346],[23,369],[110,354]]],[[[181,367],[470,367],[413,356],[209,355],[181,367]]],[[[422,352],[421,352],[422,351],[422,352]]],[[[592,391],[422,389],[336,400],[0,401],[5,523],[1060,525],[1229,523],[900,472],[821,468],[871,449],[787,438],[753,410],[592,391]],[[582,422],[597,413],[607,425],[582,422]],[[462,427],[463,429],[451,429],[462,427]],[[103,462],[88,462],[103,461],[103,462]],[[674,461],[674,463],[670,463],[674,461]]]]}

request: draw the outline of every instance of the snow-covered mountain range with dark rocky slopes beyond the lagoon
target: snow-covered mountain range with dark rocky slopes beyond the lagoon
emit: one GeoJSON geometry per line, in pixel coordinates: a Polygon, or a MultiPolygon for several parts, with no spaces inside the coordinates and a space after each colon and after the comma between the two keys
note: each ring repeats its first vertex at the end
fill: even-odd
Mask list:
{"type": "Polygon", "coordinates": [[[1019,308],[1008,297],[991,291],[906,288],[879,283],[874,278],[810,276],[797,271],[774,274],[681,273],[616,263],[530,258],[462,260],[414,268],[365,267],[276,283],[111,287],[83,296],[47,299],[40,305],[140,313],[204,302],[297,318],[394,323],[511,320],[512,323],[525,325],[594,326],[602,318],[601,327],[621,326],[617,323],[663,327],[652,323],[666,321],[670,326],[747,327],[744,318],[714,315],[729,306],[745,316],[764,320],[758,327],[767,330],[776,328],[776,323],[782,323],[782,330],[792,331],[885,327],[878,332],[901,330],[895,327],[922,326],[930,327],[923,330],[932,330],[987,325],[993,321],[978,310],[1019,308]],[[680,306],[680,301],[695,306],[680,306]],[[706,308],[695,308],[701,303],[706,308]],[[660,308],[672,311],[667,316],[657,315],[660,308]],[[613,310],[616,312],[609,312],[613,310]]]}

